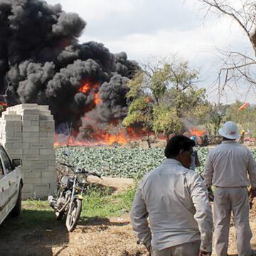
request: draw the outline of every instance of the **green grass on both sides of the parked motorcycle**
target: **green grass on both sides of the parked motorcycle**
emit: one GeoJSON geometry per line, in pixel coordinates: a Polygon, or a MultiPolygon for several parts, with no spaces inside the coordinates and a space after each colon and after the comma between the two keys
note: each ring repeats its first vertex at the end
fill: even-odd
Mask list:
{"type": "MultiPolygon", "coordinates": [[[[135,188],[122,193],[113,193],[109,187],[91,187],[82,201],[82,218],[110,218],[129,212],[134,198],[135,188]]],[[[65,219],[57,221],[48,201],[22,201],[22,212],[18,218],[7,218],[1,230],[13,232],[18,229],[55,229],[63,228],[65,219]]],[[[6,231],[5,231],[6,232],[6,231]]],[[[7,233],[8,233],[7,232],[7,233]]]]}

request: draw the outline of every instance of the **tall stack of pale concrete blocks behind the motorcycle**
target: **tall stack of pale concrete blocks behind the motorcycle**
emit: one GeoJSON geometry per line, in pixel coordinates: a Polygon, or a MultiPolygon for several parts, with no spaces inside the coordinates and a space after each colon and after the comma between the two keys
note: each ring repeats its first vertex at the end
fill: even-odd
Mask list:
{"type": "Polygon", "coordinates": [[[21,104],[0,119],[0,142],[12,158],[21,158],[23,198],[44,198],[55,191],[55,124],[48,106],[21,104]]]}

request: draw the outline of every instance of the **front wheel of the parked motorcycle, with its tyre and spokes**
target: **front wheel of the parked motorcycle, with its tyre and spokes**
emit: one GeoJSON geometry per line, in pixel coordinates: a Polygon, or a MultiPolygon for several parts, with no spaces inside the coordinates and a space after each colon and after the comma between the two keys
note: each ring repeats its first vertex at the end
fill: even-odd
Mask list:
{"type": "Polygon", "coordinates": [[[71,207],[68,210],[66,223],[65,223],[68,232],[73,232],[75,230],[75,227],[78,224],[78,220],[80,218],[81,210],[82,210],[82,200],[78,198],[74,198],[71,204],[71,207]]]}

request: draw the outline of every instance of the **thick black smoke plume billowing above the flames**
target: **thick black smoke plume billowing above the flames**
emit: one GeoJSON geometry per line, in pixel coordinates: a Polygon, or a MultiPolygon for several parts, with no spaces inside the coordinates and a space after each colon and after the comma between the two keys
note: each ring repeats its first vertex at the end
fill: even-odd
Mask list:
{"type": "Polygon", "coordinates": [[[125,117],[126,82],[139,66],[102,43],[78,43],[85,26],[60,4],[0,0],[0,93],[7,93],[8,105],[49,105],[57,125],[72,122],[74,127],[94,108],[100,122],[125,117]],[[80,92],[84,82],[97,86],[80,92]],[[95,93],[102,100],[97,107],[95,93]]]}

